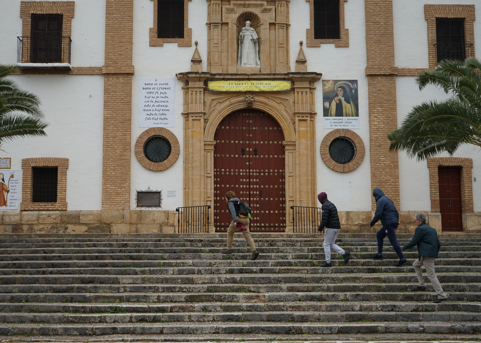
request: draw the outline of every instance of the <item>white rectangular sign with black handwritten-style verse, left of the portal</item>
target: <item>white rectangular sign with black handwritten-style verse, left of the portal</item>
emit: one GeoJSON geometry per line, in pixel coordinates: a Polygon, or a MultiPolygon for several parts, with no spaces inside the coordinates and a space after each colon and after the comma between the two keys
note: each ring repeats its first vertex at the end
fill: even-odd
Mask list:
{"type": "Polygon", "coordinates": [[[174,78],[139,79],[139,127],[174,127],[174,78]]]}

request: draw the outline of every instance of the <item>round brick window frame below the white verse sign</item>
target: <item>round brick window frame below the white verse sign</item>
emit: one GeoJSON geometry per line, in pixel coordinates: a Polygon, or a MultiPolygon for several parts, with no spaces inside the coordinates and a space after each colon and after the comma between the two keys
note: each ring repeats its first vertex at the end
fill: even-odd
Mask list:
{"type": "Polygon", "coordinates": [[[154,172],[160,172],[172,167],[177,161],[180,155],[180,145],[176,135],[174,135],[171,131],[163,127],[151,127],[150,129],[145,130],[139,135],[139,138],[137,138],[137,142],[135,142],[134,151],[135,157],[137,157],[137,160],[144,168],[154,172]],[[170,155],[169,157],[167,157],[167,159],[165,159],[165,161],[162,162],[152,162],[144,155],[145,142],[150,137],[156,135],[163,136],[170,142],[170,155]]]}

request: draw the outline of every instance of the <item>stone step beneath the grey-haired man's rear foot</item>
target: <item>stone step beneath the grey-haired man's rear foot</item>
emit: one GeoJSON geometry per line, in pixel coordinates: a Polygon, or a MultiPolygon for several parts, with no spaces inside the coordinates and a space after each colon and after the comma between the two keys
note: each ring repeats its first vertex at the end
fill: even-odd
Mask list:
{"type": "Polygon", "coordinates": [[[431,302],[405,301],[359,302],[359,301],[293,301],[275,303],[165,303],[165,304],[105,304],[105,303],[0,303],[1,313],[172,313],[172,312],[269,312],[269,311],[309,311],[309,312],[469,312],[480,313],[479,302],[444,301],[431,302]]]}

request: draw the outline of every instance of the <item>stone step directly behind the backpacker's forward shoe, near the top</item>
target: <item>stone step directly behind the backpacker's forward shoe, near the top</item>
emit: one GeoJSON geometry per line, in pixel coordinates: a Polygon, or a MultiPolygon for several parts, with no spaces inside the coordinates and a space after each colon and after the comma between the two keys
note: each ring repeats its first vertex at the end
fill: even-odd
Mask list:
{"type": "MultiPolygon", "coordinates": [[[[22,254],[189,254],[189,253],[220,253],[222,247],[218,248],[23,248],[23,249],[0,249],[0,255],[22,255],[22,254]]],[[[247,247],[232,248],[232,253],[246,252],[247,247]]],[[[350,252],[377,252],[376,246],[353,246],[348,248],[350,252]]],[[[385,246],[384,252],[394,251],[391,246],[385,246]]],[[[441,246],[440,252],[443,251],[480,251],[479,246],[441,246]]],[[[264,247],[259,252],[266,253],[324,253],[322,246],[316,247],[264,247]]]]}

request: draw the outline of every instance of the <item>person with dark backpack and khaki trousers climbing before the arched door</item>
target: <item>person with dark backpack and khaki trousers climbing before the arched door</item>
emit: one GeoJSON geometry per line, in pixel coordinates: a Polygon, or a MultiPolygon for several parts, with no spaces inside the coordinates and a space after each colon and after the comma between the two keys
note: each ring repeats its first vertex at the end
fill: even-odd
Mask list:
{"type": "Polygon", "coordinates": [[[222,254],[232,254],[232,240],[234,239],[234,233],[241,232],[251,247],[251,260],[255,260],[259,256],[259,252],[255,249],[254,240],[249,232],[249,225],[251,222],[249,220],[249,215],[251,208],[247,203],[237,198],[236,194],[232,191],[226,193],[225,199],[232,221],[227,228],[227,249],[222,250],[222,254]]]}

